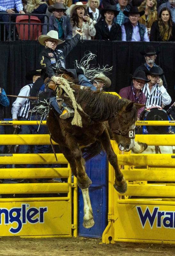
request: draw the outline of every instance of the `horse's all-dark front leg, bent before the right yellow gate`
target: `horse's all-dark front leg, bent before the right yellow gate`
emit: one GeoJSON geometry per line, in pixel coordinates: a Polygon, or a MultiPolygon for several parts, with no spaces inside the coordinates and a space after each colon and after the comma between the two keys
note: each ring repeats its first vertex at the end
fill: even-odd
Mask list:
{"type": "Polygon", "coordinates": [[[127,183],[123,176],[123,173],[121,172],[121,170],[118,166],[117,156],[114,153],[113,148],[111,146],[110,137],[107,132],[107,129],[104,130],[104,132],[98,139],[101,142],[102,147],[104,148],[104,150],[107,153],[108,161],[110,162],[110,164],[113,166],[113,168],[115,170],[114,187],[119,193],[123,194],[127,190],[127,183]]]}

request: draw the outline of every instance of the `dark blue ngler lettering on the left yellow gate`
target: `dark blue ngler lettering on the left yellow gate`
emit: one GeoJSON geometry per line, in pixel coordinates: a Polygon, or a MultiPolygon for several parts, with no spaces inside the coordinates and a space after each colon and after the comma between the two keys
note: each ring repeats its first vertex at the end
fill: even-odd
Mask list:
{"type": "Polygon", "coordinates": [[[13,207],[11,209],[0,208],[0,225],[4,222],[5,225],[13,225],[17,223],[17,227],[10,227],[9,232],[17,234],[21,231],[23,224],[44,223],[44,213],[47,212],[47,207],[30,207],[29,204],[22,204],[21,207],[13,207]],[[3,221],[4,217],[4,221],[3,221]]]}

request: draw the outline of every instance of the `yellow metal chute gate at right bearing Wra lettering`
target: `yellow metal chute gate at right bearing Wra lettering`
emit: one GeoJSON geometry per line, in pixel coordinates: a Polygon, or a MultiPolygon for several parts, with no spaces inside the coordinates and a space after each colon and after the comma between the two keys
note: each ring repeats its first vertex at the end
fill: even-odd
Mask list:
{"type": "MultiPolygon", "coordinates": [[[[148,145],[175,145],[173,135],[136,135],[148,145]]],[[[111,141],[127,180],[123,195],[114,189],[109,164],[108,225],[103,243],[175,244],[175,154],[122,153],[111,141]]]]}

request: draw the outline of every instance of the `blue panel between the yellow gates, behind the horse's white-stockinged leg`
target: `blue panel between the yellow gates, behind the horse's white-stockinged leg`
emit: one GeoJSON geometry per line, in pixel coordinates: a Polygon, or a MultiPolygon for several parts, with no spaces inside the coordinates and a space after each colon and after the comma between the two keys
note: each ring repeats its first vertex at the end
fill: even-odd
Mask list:
{"type": "Polygon", "coordinates": [[[107,155],[97,155],[86,162],[86,172],[92,181],[89,188],[92,211],[95,224],[86,229],[83,227],[84,203],[81,189],[78,195],[78,235],[83,237],[100,238],[107,222],[107,155]]]}

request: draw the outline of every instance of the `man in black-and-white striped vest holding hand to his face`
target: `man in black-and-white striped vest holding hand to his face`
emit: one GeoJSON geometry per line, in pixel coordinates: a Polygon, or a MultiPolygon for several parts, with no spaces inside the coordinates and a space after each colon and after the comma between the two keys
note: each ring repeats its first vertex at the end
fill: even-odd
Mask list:
{"type": "Polygon", "coordinates": [[[147,70],[149,82],[142,89],[147,99],[146,106],[155,104],[163,108],[171,103],[171,97],[163,86],[162,76],[163,70],[160,67],[152,67],[147,70]]]}

